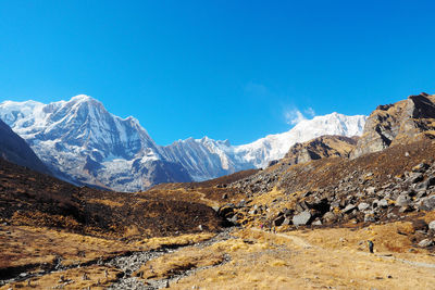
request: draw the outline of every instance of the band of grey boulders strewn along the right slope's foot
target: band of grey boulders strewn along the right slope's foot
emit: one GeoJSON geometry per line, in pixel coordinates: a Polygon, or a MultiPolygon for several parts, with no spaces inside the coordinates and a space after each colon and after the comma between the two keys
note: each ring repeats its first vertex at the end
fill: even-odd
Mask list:
{"type": "MultiPolygon", "coordinates": [[[[302,191],[291,209],[285,209],[275,216],[269,214],[271,209],[268,205],[263,204],[260,207],[251,204],[250,200],[239,203],[238,205],[243,205],[241,209],[226,204],[221,212],[231,215],[233,222],[237,222],[236,213],[240,212],[244,213],[240,215],[243,218],[249,215],[256,215],[256,218],[263,216],[263,220],[269,219],[274,226],[308,226],[314,223],[328,225],[350,219],[364,223],[375,223],[383,218],[397,219],[400,214],[435,210],[434,165],[435,163],[430,165],[421,162],[413,166],[411,172],[405,172],[402,176],[390,176],[388,182],[381,185],[376,182],[376,176],[372,172],[355,171],[335,186],[302,191]]],[[[254,185],[269,180],[272,173],[259,173],[258,175],[264,174],[264,176],[254,176],[253,179],[257,180],[254,185]]],[[[250,181],[243,182],[248,186],[250,181]]],[[[271,206],[285,200],[288,200],[287,194],[275,199],[271,206]]]]}

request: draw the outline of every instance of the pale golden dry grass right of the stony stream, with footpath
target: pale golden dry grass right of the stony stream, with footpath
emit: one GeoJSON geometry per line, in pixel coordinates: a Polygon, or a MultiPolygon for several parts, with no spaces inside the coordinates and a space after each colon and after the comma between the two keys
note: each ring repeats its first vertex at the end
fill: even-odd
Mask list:
{"type": "MultiPolygon", "coordinates": [[[[407,224],[396,226],[403,227],[403,230],[408,228],[407,224]]],[[[375,254],[358,249],[357,240],[373,238],[372,230],[381,237],[378,235],[385,229],[386,226],[359,231],[349,228],[316,229],[278,235],[246,229],[237,234],[238,239],[208,248],[212,253],[229,254],[229,263],[198,272],[171,288],[431,289],[435,282],[434,269],[408,264],[400,259],[435,264],[433,256],[390,252],[386,247],[384,252],[381,243],[380,252],[375,254]],[[339,244],[340,238],[344,238],[344,244],[339,244]]],[[[400,235],[391,230],[384,236],[393,241],[400,235]]],[[[405,240],[398,241],[397,245],[409,249],[405,240]]]]}

